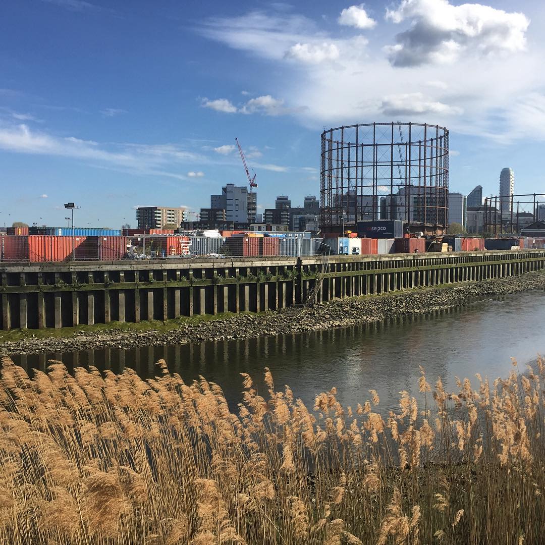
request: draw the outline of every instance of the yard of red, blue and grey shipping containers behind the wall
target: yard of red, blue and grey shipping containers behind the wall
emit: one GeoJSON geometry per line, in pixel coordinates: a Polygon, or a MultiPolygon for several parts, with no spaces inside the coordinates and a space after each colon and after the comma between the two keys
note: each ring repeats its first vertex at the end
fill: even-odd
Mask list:
{"type": "MultiPolygon", "coordinates": [[[[402,234],[402,222],[359,222],[359,233],[376,232],[375,237],[326,235],[311,238],[309,232],[208,231],[199,235],[174,234],[171,229],[12,227],[0,234],[0,261],[29,263],[60,261],[114,261],[116,259],[157,259],[176,257],[308,257],[323,253],[334,256],[373,256],[392,253],[475,252],[543,248],[545,239],[511,237],[422,237],[402,234]],[[25,234],[26,232],[31,234],[25,234]],[[50,234],[32,234],[42,231],[50,234]],[[16,234],[20,233],[20,234],[16,234]],[[101,234],[80,234],[101,233],[101,234]],[[110,234],[113,233],[113,234],[110,234]],[[228,235],[228,236],[223,236],[228,235]]],[[[188,232],[186,232],[188,233],[188,232]]],[[[201,232],[202,233],[202,232],[201,232]]],[[[195,234],[195,232],[193,232],[195,234]]]]}

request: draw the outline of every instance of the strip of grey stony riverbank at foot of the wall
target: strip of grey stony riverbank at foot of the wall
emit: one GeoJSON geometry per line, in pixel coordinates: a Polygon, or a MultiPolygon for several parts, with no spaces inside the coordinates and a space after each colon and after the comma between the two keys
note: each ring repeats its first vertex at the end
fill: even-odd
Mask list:
{"type": "Polygon", "coordinates": [[[175,324],[168,331],[111,328],[107,331],[76,331],[69,337],[36,337],[32,330],[28,330],[27,336],[15,342],[0,340],[0,354],[71,352],[99,347],[131,348],[144,344],[160,346],[331,329],[381,322],[407,314],[425,314],[488,296],[535,289],[545,289],[544,272],[333,300],[307,309],[291,308],[280,312],[240,314],[190,323],[180,320],[179,324],[175,324]]]}

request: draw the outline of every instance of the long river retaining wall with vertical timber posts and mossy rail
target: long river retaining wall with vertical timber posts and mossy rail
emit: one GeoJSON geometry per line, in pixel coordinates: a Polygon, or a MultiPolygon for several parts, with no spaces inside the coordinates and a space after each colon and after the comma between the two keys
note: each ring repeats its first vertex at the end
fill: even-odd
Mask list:
{"type": "Polygon", "coordinates": [[[263,312],[350,296],[516,276],[545,250],[153,261],[9,263],[0,267],[0,328],[167,320],[263,312]]]}

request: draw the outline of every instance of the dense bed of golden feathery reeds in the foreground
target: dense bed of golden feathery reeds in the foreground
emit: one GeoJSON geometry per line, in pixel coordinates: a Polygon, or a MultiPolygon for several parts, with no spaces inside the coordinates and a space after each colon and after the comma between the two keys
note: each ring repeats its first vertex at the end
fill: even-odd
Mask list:
{"type": "Polygon", "coordinates": [[[381,414],[219,385],[2,361],[0,543],[541,543],[545,361],[381,414]]]}

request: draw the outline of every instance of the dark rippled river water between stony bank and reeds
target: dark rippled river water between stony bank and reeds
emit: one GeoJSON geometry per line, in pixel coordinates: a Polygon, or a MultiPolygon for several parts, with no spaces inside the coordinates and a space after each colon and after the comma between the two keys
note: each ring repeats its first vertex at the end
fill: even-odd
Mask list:
{"type": "MultiPolygon", "coordinates": [[[[545,292],[513,294],[475,301],[448,311],[407,317],[374,326],[261,337],[243,341],[202,342],[181,346],[100,349],[79,353],[14,356],[26,367],[45,369],[47,359],[94,365],[119,372],[134,368],[144,378],[160,373],[154,365],[164,358],[171,371],[190,383],[204,376],[219,384],[232,409],[240,402],[241,372],[261,377],[269,367],[277,389],[288,384],[295,397],[312,406],[314,396],[336,386],[343,404],[355,407],[376,389],[380,409],[398,407],[399,392],[417,395],[419,365],[428,381],[443,379],[456,389],[455,377],[475,373],[490,381],[505,377],[516,358],[521,371],[545,355],[545,292]]],[[[387,414],[387,412],[386,412],[387,414]]]]}

